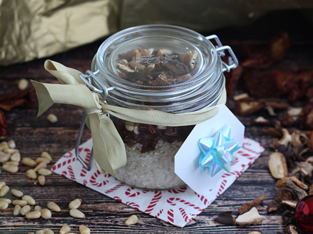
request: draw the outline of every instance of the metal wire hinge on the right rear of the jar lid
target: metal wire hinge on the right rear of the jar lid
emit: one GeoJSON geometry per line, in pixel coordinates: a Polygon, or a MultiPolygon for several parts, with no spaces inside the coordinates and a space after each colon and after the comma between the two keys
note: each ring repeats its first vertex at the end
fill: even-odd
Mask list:
{"type": "Polygon", "coordinates": [[[230,46],[223,46],[222,42],[219,40],[218,36],[216,35],[211,35],[206,37],[208,40],[214,40],[216,42],[216,51],[218,52],[218,55],[220,57],[224,57],[225,56],[225,50],[228,51],[228,53],[230,54],[230,56],[228,57],[228,64],[225,63],[224,61],[222,61],[223,64],[223,72],[227,71],[230,72],[231,69],[234,69],[238,66],[239,62],[238,59],[235,55],[235,53],[233,52],[232,48],[230,48],[230,46]]]}

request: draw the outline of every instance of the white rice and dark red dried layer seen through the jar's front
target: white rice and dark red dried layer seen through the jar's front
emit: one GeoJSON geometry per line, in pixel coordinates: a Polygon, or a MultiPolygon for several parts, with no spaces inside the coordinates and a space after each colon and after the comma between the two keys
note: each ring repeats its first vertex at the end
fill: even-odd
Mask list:
{"type": "Polygon", "coordinates": [[[174,173],[174,156],[194,126],[165,127],[111,118],[126,148],[127,164],[115,170],[121,181],[148,189],[185,185],[174,173]]]}

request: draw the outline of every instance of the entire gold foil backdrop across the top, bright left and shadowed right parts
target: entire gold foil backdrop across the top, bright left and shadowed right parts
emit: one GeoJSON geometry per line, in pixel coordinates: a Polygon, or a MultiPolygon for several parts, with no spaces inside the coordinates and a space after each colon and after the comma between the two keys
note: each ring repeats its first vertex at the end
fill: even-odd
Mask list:
{"type": "Polygon", "coordinates": [[[0,0],[0,65],[51,56],[135,25],[201,32],[244,25],[273,10],[310,8],[311,0],[0,0]]]}

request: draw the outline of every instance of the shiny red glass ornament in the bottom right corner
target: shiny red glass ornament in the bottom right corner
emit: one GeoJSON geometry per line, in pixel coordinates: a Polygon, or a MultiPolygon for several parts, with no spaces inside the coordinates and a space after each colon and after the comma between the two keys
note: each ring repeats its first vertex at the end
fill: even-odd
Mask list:
{"type": "Polygon", "coordinates": [[[295,207],[295,219],[305,233],[313,233],[313,195],[299,200],[295,207]]]}

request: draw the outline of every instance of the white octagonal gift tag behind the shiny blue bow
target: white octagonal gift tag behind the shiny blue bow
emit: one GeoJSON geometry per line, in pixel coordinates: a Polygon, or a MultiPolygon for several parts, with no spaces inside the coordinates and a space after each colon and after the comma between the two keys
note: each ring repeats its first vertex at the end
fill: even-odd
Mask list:
{"type": "Polygon", "coordinates": [[[208,168],[203,172],[199,166],[199,158],[202,154],[198,141],[203,137],[213,137],[225,126],[231,127],[231,139],[242,144],[244,140],[244,125],[237,117],[224,105],[218,105],[218,114],[200,124],[197,124],[191,131],[181,148],[175,155],[175,173],[193,191],[206,196],[214,183],[218,184],[219,179],[225,173],[223,169],[211,177],[208,168]],[[209,184],[210,186],[206,186],[209,184]]]}

